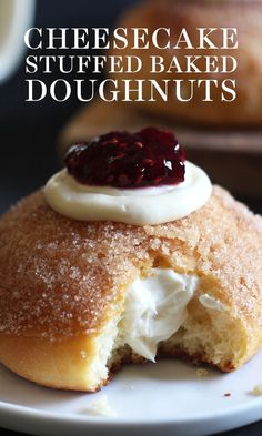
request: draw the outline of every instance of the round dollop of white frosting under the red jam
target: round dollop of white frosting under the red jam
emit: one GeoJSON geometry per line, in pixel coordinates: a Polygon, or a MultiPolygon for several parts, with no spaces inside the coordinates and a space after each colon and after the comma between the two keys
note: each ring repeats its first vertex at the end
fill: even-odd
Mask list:
{"type": "Polygon", "coordinates": [[[182,219],[202,207],[212,185],[203,170],[185,161],[185,180],[178,185],[134,190],[84,185],[64,169],[48,181],[43,192],[56,212],[73,220],[154,225],[182,219]]]}

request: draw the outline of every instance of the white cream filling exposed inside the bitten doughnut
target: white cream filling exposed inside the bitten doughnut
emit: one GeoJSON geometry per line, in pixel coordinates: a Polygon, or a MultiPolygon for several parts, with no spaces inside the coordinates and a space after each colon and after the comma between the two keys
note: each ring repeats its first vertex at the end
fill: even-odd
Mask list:
{"type": "Polygon", "coordinates": [[[118,346],[128,344],[154,362],[159,342],[167,341],[184,322],[198,282],[195,275],[159,267],[135,280],[128,290],[118,346]]]}

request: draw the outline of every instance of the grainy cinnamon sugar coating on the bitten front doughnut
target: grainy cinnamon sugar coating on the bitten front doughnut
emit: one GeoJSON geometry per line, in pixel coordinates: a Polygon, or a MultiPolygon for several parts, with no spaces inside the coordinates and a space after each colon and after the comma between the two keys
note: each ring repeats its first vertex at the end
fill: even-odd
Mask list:
{"type": "Polygon", "coordinates": [[[189,216],[143,227],[69,220],[39,191],[0,220],[0,333],[95,334],[155,264],[209,277],[232,316],[262,327],[261,258],[262,219],[219,186],[189,216]]]}

